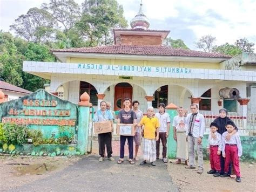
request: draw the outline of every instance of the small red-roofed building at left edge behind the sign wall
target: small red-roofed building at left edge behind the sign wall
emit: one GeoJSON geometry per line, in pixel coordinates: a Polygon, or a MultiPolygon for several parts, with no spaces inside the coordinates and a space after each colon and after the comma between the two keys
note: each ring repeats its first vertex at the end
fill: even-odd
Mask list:
{"type": "Polygon", "coordinates": [[[31,91],[24,90],[24,88],[11,85],[4,81],[0,81],[0,90],[4,93],[4,100],[10,101],[23,97],[24,95],[32,93],[31,91]]]}

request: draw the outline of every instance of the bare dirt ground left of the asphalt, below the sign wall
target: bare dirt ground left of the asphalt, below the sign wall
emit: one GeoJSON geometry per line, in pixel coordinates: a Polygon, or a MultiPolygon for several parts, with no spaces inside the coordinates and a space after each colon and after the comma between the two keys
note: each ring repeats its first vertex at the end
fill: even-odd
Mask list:
{"type": "Polygon", "coordinates": [[[0,156],[0,191],[43,179],[80,157],[10,157],[0,156]]]}

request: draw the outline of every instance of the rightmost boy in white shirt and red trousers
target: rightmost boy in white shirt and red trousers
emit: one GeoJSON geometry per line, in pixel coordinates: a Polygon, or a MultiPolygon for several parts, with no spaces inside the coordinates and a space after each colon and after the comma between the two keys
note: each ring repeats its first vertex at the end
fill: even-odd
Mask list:
{"type": "Polygon", "coordinates": [[[222,142],[223,142],[223,149],[222,155],[225,159],[225,167],[224,167],[224,174],[221,177],[228,176],[228,165],[230,162],[233,162],[233,169],[235,175],[237,175],[237,179],[235,181],[241,182],[241,175],[240,175],[240,168],[239,168],[239,157],[242,155],[242,144],[240,140],[239,134],[236,132],[230,138],[230,140],[226,140],[226,135],[228,133],[234,132],[235,124],[232,121],[227,121],[226,124],[227,131],[222,134],[222,142]]]}

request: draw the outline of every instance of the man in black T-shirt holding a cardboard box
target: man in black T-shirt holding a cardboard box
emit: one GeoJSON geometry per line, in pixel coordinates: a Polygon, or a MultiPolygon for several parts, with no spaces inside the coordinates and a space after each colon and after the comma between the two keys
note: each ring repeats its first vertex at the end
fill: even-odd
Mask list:
{"type": "MultiPolygon", "coordinates": [[[[117,117],[117,124],[136,124],[136,114],[130,108],[131,106],[131,99],[125,98],[124,99],[124,109],[119,111],[117,117]]],[[[137,124],[136,124],[137,125],[137,124]]],[[[130,164],[134,164],[133,159],[133,138],[134,136],[124,136],[120,135],[120,159],[117,161],[118,164],[124,162],[124,146],[126,139],[128,140],[129,144],[129,159],[128,161],[130,164]]]]}

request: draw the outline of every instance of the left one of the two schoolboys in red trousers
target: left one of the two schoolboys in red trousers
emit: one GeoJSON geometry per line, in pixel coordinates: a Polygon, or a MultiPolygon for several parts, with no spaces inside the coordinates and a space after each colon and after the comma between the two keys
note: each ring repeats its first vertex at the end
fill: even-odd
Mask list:
{"type": "Polygon", "coordinates": [[[211,133],[208,136],[207,152],[210,153],[211,170],[208,174],[213,174],[214,177],[220,176],[220,152],[222,148],[221,134],[217,132],[219,126],[215,122],[210,125],[211,133]],[[212,135],[216,135],[213,139],[212,135]]]}

